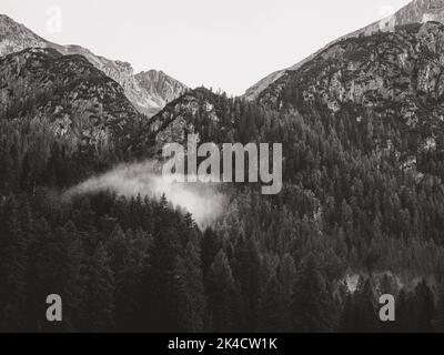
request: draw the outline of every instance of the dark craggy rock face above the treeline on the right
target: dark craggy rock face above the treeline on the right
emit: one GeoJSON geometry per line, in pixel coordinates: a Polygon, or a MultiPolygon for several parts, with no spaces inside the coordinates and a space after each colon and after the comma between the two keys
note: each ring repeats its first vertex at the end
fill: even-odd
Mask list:
{"type": "Polygon", "coordinates": [[[258,101],[347,125],[381,121],[401,128],[403,136],[376,144],[393,143],[407,160],[432,146],[444,151],[443,45],[444,26],[438,22],[349,38],[285,71],[258,101]]]}

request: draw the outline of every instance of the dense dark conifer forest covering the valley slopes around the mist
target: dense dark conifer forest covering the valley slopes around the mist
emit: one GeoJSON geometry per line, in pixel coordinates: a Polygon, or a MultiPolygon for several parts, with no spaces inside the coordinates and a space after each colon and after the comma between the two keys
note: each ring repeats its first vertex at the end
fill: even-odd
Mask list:
{"type": "Polygon", "coordinates": [[[282,193],[221,186],[228,206],[205,227],[165,197],[63,199],[64,189],[135,158],[119,146],[73,149],[32,114],[0,119],[0,331],[443,329],[438,151],[406,169],[377,143],[407,144],[402,128],[371,111],[356,121],[346,111],[192,94],[198,113],[185,118],[203,141],[284,148],[282,193]],[[220,121],[206,116],[209,100],[220,121]],[[53,293],[63,298],[61,324],[44,320],[53,293]],[[391,324],[377,315],[386,293],[396,297],[391,324]]]}

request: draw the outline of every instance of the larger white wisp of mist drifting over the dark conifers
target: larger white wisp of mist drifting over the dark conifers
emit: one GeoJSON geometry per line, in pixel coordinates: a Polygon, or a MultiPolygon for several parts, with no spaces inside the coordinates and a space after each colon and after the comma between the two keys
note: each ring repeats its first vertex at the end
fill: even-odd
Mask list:
{"type": "Polygon", "coordinates": [[[224,203],[223,194],[216,191],[214,184],[168,182],[152,161],[118,165],[71,187],[64,197],[99,191],[110,191],[125,197],[141,195],[160,199],[165,194],[174,206],[190,212],[201,227],[222,213],[224,203]]]}

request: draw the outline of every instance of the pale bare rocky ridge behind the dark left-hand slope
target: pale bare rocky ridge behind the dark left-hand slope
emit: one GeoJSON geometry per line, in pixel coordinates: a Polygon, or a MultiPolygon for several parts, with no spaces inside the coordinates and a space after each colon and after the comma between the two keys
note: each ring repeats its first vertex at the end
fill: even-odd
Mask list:
{"type": "Polygon", "coordinates": [[[90,50],[80,45],[59,45],[49,42],[9,17],[0,14],[0,57],[27,48],[52,48],[62,54],[83,55],[95,68],[121,84],[125,95],[133,105],[140,112],[149,116],[159,112],[164,106],[165,102],[171,101],[172,98],[178,98],[186,90],[184,84],[167,77],[162,72],[150,71],[150,75],[145,75],[145,73],[135,75],[133,68],[128,62],[113,61],[95,55],[90,50]],[[143,87],[141,85],[140,79],[137,79],[137,77],[144,77],[142,80],[143,87]],[[151,78],[155,82],[150,82],[151,78]],[[155,89],[153,90],[153,88],[155,89]]]}

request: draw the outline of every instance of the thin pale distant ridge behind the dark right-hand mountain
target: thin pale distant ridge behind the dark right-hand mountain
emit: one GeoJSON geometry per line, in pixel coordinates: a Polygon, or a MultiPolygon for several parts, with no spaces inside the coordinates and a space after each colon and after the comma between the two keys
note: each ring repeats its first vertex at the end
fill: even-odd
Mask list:
{"type": "MultiPolygon", "coordinates": [[[[376,21],[363,29],[360,29],[353,33],[349,33],[332,43],[327,44],[325,48],[331,47],[337,42],[341,42],[347,38],[356,38],[361,36],[372,36],[379,31],[387,32],[393,31],[396,26],[403,26],[415,22],[426,22],[426,21],[436,21],[444,23],[444,0],[414,0],[401,10],[398,10],[393,16],[389,16],[381,21],[376,21]]],[[[263,78],[258,83],[252,85],[245,91],[244,97],[248,100],[256,99],[260,93],[265,90],[270,84],[280,79],[287,70],[296,70],[301,68],[303,64],[315,58],[319,53],[321,53],[325,48],[304,59],[303,61],[294,64],[284,70],[280,70],[273,72],[272,74],[263,78]]]]}

